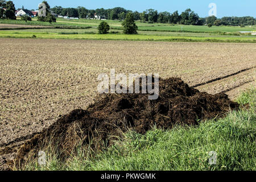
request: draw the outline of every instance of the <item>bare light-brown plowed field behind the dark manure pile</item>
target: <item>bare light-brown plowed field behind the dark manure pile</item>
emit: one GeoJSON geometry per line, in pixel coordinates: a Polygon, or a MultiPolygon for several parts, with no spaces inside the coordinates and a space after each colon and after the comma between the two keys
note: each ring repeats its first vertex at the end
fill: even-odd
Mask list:
{"type": "Polygon", "coordinates": [[[249,43],[0,39],[0,45],[0,147],[84,109],[97,94],[97,76],[110,69],[180,77],[232,99],[255,84],[256,46],[249,43]]]}

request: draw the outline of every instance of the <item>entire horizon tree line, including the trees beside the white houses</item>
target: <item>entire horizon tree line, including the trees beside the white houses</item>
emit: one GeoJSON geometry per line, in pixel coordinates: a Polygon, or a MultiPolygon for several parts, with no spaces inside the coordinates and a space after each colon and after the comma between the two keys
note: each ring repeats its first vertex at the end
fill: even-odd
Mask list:
{"type": "MultiPolygon", "coordinates": [[[[192,25],[255,25],[256,19],[251,16],[243,17],[223,17],[217,19],[215,16],[209,16],[207,18],[200,18],[195,11],[187,9],[181,14],[178,11],[174,13],[169,13],[167,11],[158,12],[154,9],[148,9],[139,13],[138,11],[126,10],[122,7],[115,7],[113,9],[96,9],[88,10],[85,7],[77,8],[64,8],[61,6],[55,6],[50,8],[47,1],[43,1],[47,6],[47,15],[46,17],[39,17],[40,21],[44,22],[56,22],[56,19],[51,15],[51,11],[61,16],[69,16],[75,18],[94,18],[94,15],[100,16],[101,19],[110,19],[110,20],[124,20],[126,15],[131,13],[133,14],[134,20],[140,20],[141,22],[148,23],[170,23],[170,24],[192,24],[192,25]]],[[[12,1],[0,0],[0,18],[16,19],[15,17],[15,6],[12,1]]]]}

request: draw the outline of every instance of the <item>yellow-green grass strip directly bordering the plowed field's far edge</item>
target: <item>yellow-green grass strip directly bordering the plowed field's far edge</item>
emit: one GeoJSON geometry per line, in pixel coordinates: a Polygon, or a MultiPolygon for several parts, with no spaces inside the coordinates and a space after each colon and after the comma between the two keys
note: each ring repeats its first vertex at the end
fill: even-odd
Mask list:
{"type": "Polygon", "coordinates": [[[36,38],[40,39],[82,39],[82,40],[135,40],[135,41],[163,41],[163,42],[233,42],[233,43],[256,43],[255,36],[186,36],[186,35],[126,35],[121,32],[118,34],[96,34],[97,31],[19,31],[2,30],[0,38],[36,38]]]}

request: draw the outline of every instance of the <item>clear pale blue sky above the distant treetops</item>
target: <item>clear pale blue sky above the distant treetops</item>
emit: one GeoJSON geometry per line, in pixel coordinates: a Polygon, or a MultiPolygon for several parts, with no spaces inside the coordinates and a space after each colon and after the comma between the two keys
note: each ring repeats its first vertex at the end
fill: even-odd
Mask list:
{"type": "MultiPolygon", "coordinates": [[[[13,0],[16,9],[24,6],[26,9],[37,9],[42,0],[13,0]]],[[[195,11],[200,17],[208,16],[210,3],[217,5],[217,17],[222,16],[254,16],[256,18],[255,0],[48,0],[51,7],[77,7],[84,6],[86,9],[97,9],[103,7],[109,9],[113,7],[123,7],[127,10],[137,10],[139,12],[146,9],[156,9],[158,11],[181,13],[187,8],[195,11]]]]}

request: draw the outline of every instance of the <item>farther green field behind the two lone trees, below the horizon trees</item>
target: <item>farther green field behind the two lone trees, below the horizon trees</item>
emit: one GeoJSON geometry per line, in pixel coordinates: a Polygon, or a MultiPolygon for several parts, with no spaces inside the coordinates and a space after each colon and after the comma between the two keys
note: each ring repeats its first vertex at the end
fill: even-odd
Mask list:
{"type": "MultiPolygon", "coordinates": [[[[57,18],[56,23],[49,24],[48,22],[39,22],[37,18],[32,18],[32,21],[27,23],[19,18],[17,20],[9,19],[0,19],[0,23],[9,23],[9,24],[29,24],[29,25],[41,25],[41,26],[60,26],[60,27],[73,27],[73,28],[82,28],[82,27],[97,27],[100,22],[103,20],[96,19],[63,19],[57,18]]],[[[109,23],[111,28],[121,29],[122,22],[118,20],[104,20],[109,23]]],[[[237,31],[256,31],[256,26],[246,26],[246,27],[237,27],[237,26],[190,26],[190,25],[181,25],[181,24],[165,24],[165,23],[141,23],[136,22],[138,29],[141,31],[170,31],[170,32],[237,32],[237,31]]]]}

